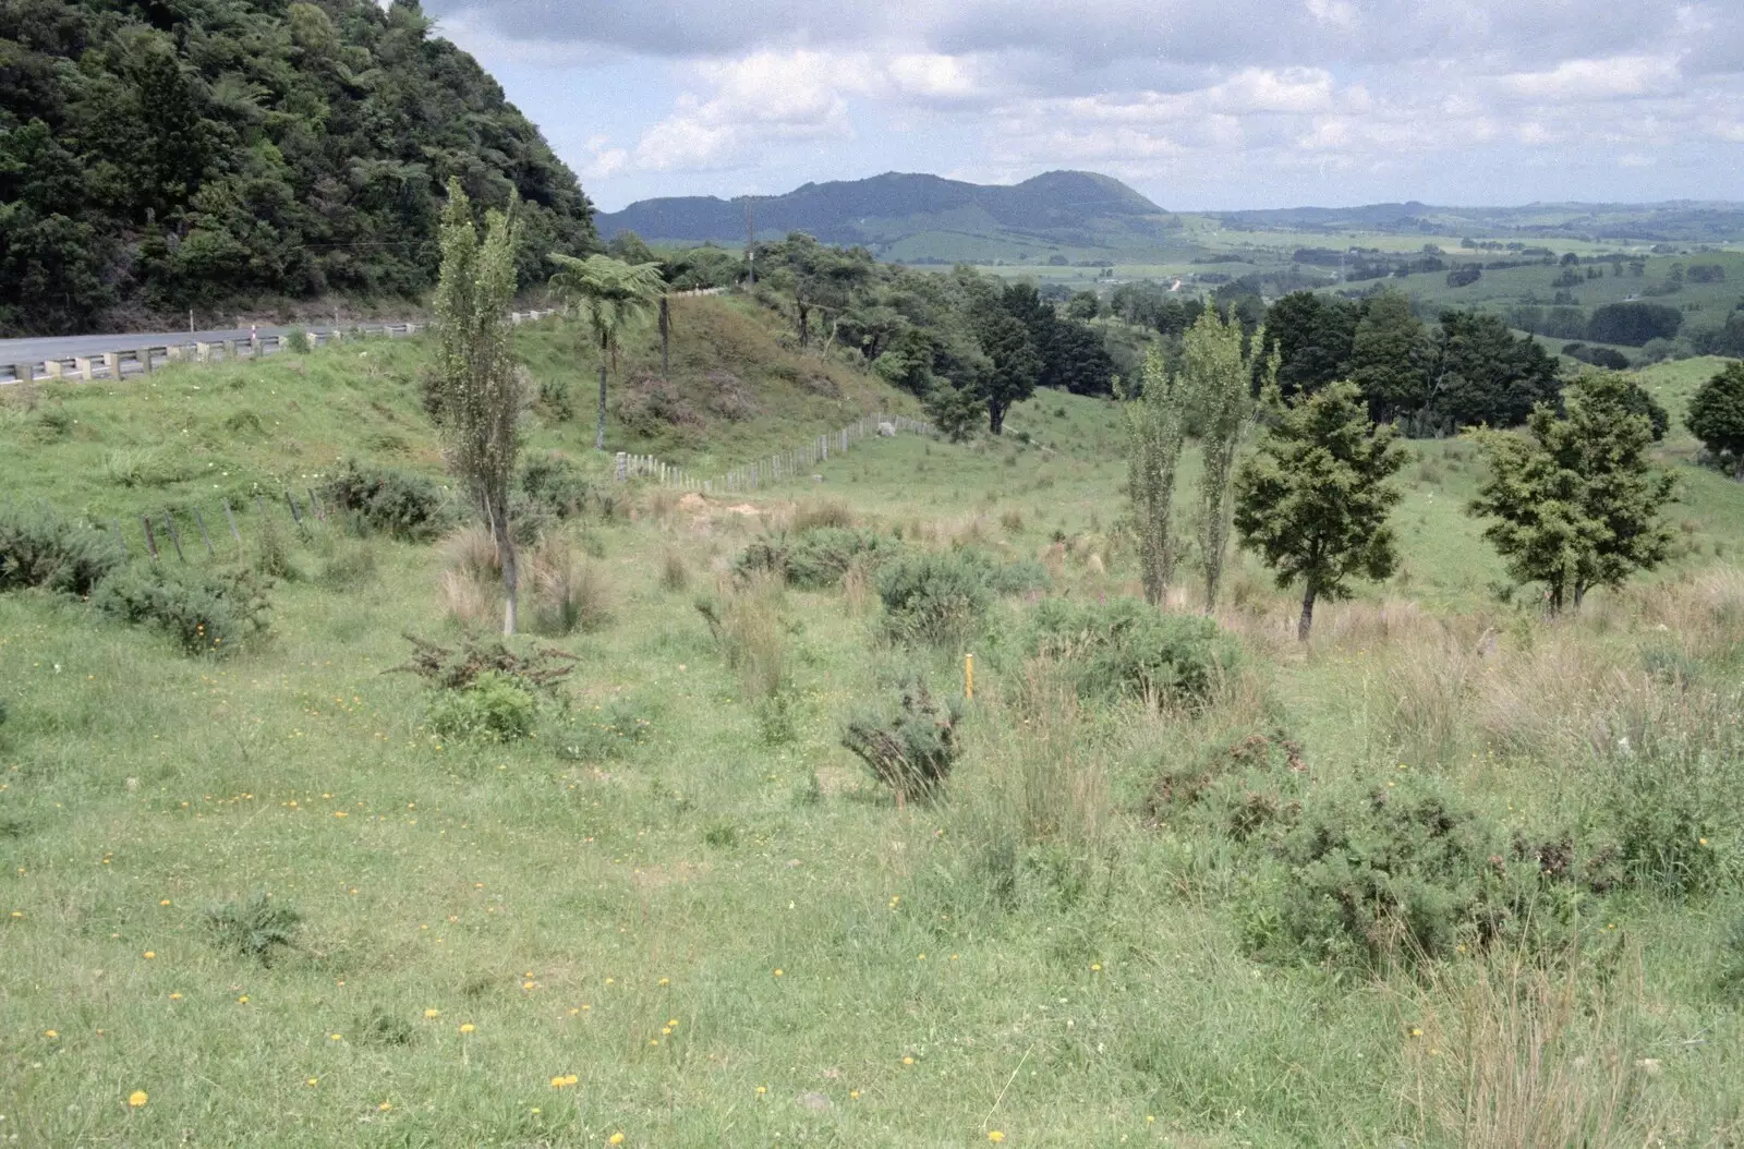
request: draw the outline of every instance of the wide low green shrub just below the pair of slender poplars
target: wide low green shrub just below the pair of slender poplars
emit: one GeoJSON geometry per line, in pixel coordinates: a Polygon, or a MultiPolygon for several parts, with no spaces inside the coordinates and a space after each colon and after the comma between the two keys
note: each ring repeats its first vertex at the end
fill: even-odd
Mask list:
{"type": "Polygon", "coordinates": [[[1137,598],[1045,598],[1031,615],[1025,654],[1064,663],[1083,697],[1189,704],[1209,701],[1238,659],[1235,640],[1212,619],[1163,614],[1137,598]]]}

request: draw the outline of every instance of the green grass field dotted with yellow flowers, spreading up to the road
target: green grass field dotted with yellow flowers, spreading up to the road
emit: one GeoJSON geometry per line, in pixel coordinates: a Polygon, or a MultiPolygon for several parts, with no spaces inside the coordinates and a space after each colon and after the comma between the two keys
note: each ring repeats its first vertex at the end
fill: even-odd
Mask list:
{"type": "MultiPolygon", "coordinates": [[[[752,312],[680,312],[677,330],[696,333],[682,398],[701,420],[689,438],[614,424],[614,448],[743,462],[898,401],[781,350],[752,312]],[[755,415],[706,413],[713,347],[755,415]]],[[[539,410],[530,443],[584,459],[591,359],[569,368],[569,338],[523,343],[579,406],[539,410]]],[[[298,490],[345,455],[438,474],[424,349],[366,352],[9,398],[0,481],[126,516],[298,490]]],[[[441,589],[453,542],[298,535],[281,516],[272,631],[223,659],[72,598],[0,595],[0,1139],[1737,1144],[1735,880],[1585,896],[1550,955],[1359,971],[1261,954],[1287,867],[1149,806],[1167,771],[1257,736],[1299,743],[1264,785],[1308,807],[1427,776],[1505,833],[1580,837],[1615,818],[1632,738],[1655,769],[1706,764],[1700,851],[1735,875],[1744,488],[1699,469],[1676,422],[1714,366],[1643,377],[1674,411],[1685,492],[1666,572],[1580,617],[1500,605],[1461,513],[1470,446],[1413,445],[1404,572],[1325,608],[1298,649],[1291,596],[1240,565],[1217,612],[1240,670],[1203,708],[1078,699],[1069,668],[1015,652],[1038,595],[998,602],[963,758],[942,799],[900,809],[841,724],[902,673],[959,694],[964,650],[888,638],[863,581],[780,588],[734,561],[853,521],[1039,561],[1046,595],[1076,603],[1132,595],[1113,405],[1043,392],[998,445],[872,441],[799,502],[631,485],[617,514],[563,532],[603,617],[544,640],[577,659],[567,703],[508,744],[438,734],[439,692],[384,673],[406,633],[462,638],[441,589]],[[717,642],[698,598],[750,622],[717,642]],[[752,670],[732,666],[745,650],[752,670]],[[208,924],[256,891],[302,915],[270,962],[208,924]]],[[[256,532],[244,514],[249,553],[256,532]]]]}

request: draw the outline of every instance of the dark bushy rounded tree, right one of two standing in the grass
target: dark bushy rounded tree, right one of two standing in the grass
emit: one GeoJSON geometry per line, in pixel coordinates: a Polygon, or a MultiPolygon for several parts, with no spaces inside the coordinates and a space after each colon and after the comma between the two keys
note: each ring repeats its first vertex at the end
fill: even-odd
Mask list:
{"type": "Polygon", "coordinates": [[[1629,385],[1582,375],[1564,391],[1566,415],[1538,405],[1524,436],[1475,432],[1489,478],[1468,509],[1495,520],[1484,537],[1510,575],[1545,584],[1552,610],[1652,570],[1671,546],[1660,511],[1676,483],[1646,459],[1653,429],[1631,410],[1629,385]]]}

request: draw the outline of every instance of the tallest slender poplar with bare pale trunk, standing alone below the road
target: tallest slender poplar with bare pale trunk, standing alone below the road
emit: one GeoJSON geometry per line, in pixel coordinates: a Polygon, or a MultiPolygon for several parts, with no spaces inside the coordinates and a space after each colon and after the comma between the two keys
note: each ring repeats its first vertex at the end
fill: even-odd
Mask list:
{"type": "Polygon", "coordinates": [[[459,180],[448,181],[441,221],[441,279],[436,284],[436,396],[448,438],[448,466],[490,527],[502,563],[508,605],[502,633],[514,633],[516,565],[509,530],[509,492],[516,424],[523,396],[511,350],[509,303],[514,300],[516,201],[485,216],[485,237],[473,225],[473,204],[459,180]]]}

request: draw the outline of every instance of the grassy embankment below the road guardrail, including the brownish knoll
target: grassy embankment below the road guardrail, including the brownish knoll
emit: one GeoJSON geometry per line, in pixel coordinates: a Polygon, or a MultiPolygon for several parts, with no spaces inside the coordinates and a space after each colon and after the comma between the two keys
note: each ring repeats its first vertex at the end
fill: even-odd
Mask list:
{"type": "MultiPolygon", "coordinates": [[[[783,335],[778,319],[743,300],[675,300],[671,387],[696,422],[649,434],[616,418],[616,405],[659,366],[657,340],[644,328],[610,378],[607,452],[657,453],[706,476],[870,411],[917,413],[912,398],[875,375],[788,350],[783,335]],[[713,413],[720,384],[710,371],[739,382],[752,405],[746,417],[713,413]]],[[[603,466],[591,450],[598,352],[586,343],[560,321],[518,330],[535,389],[563,385],[574,405],[570,420],[532,420],[527,450],[603,466]]],[[[431,349],[424,338],[375,340],[258,368],[176,366],[119,385],[54,384],[10,396],[0,406],[0,490],[103,518],[166,506],[221,514],[221,499],[239,509],[256,493],[279,499],[286,488],[303,499],[347,455],[439,474],[439,443],[417,382],[431,349]]]]}

